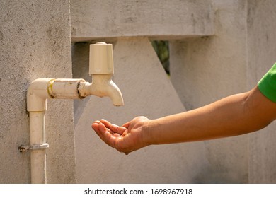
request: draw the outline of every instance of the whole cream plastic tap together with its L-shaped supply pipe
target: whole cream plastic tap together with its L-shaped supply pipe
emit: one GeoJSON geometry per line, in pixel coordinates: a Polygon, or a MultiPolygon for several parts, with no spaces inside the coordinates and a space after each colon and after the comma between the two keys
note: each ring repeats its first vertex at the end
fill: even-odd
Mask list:
{"type": "Polygon", "coordinates": [[[50,98],[80,99],[88,95],[109,96],[113,105],[124,105],[120,89],[113,83],[112,45],[98,42],[91,45],[89,74],[92,83],[84,79],[38,78],[33,81],[27,92],[27,110],[30,112],[30,172],[33,184],[46,184],[45,111],[46,100],[50,98]]]}

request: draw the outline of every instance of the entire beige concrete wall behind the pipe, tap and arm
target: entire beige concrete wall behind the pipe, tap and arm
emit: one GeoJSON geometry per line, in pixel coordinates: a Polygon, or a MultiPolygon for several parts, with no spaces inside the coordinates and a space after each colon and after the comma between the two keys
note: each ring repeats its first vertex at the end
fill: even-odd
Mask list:
{"type": "Polygon", "coordinates": [[[98,40],[113,43],[113,80],[125,106],[93,96],[74,106],[71,100],[49,100],[48,182],[276,182],[275,123],[255,134],[149,146],[128,156],[91,129],[102,117],[123,124],[137,115],[161,117],[248,91],[275,62],[274,1],[114,2],[0,2],[0,183],[30,182],[30,153],[17,150],[29,144],[30,82],[72,73],[91,81],[88,45],[98,40]],[[170,79],[151,39],[170,40],[170,79]]]}

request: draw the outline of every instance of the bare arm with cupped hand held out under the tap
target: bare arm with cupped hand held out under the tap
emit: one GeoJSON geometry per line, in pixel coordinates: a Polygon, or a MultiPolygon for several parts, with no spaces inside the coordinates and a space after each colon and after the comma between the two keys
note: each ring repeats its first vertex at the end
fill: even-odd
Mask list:
{"type": "Polygon", "coordinates": [[[276,103],[256,86],[210,105],[176,115],[148,120],[136,117],[122,127],[106,120],[93,129],[105,143],[118,151],[131,152],[151,144],[171,144],[236,136],[262,129],[275,120],[276,103]]]}

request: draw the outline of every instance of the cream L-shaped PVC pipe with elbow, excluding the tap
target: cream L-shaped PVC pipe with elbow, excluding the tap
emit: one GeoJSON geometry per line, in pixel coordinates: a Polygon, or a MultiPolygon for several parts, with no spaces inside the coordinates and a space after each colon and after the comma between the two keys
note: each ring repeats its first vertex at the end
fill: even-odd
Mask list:
{"type": "Polygon", "coordinates": [[[45,111],[50,98],[76,99],[83,79],[38,78],[30,84],[27,110],[30,115],[30,174],[33,184],[46,184],[45,111]]]}

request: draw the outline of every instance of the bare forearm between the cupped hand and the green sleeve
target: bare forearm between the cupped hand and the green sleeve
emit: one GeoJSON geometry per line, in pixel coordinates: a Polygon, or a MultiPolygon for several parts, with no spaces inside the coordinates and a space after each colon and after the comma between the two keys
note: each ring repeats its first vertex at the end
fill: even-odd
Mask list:
{"type": "MultiPolygon", "coordinates": [[[[150,120],[145,128],[145,139],[149,144],[169,144],[253,132],[275,119],[269,105],[263,107],[255,102],[263,97],[258,88],[254,88],[196,110],[150,120]]],[[[272,105],[276,110],[275,104],[272,105]]]]}

